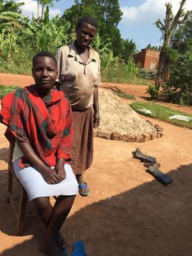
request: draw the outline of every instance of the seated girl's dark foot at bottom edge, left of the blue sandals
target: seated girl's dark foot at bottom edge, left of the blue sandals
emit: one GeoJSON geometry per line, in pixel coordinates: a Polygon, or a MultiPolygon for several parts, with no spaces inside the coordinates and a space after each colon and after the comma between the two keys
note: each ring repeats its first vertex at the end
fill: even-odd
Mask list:
{"type": "Polygon", "coordinates": [[[50,256],[63,256],[63,253],[58,247],[56,240],[53,237],[45,235],[39,245],[41,252],[47,253],[50,256]]]}

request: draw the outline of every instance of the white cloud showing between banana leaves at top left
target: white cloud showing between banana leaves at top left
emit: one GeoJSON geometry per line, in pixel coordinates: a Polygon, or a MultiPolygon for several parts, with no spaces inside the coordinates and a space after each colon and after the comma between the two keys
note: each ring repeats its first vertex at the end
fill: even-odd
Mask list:
{"type": "MultiPolygon", "coordinates": [[[[22,14],[28,16],[29,18],[32,17],[32,14],[37,17],[37,3],[33,0],[16,0],[17,3],[24,3],[23,6],[21,6],[22,14]]],[[[41,13],[41,6],[39,12],[41,13]]],[[[50,17],[54,17],[56,14],[60,15],[61,11],[59,9],[49,9],[49,15],[50,17]]]]}

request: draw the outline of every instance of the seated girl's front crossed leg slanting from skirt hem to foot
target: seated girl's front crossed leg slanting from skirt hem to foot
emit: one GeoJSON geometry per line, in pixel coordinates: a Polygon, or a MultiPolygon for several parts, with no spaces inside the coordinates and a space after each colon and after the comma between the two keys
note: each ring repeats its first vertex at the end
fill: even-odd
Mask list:
{"type": "Polygon", "coordinates": [[[62,256],[63,253],[59,250],[57,245],[57,237],[60,228],[66,220],[68,213],[74,203],[76,196],[59,196],[58,200],[52,209],[51,219],[44,239],[40,244],[40,250],[48,253],[51,256],[62,256]]]}

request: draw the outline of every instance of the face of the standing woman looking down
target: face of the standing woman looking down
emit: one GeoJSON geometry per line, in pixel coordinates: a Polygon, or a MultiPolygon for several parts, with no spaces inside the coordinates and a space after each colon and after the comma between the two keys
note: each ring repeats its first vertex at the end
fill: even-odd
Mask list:
{"type": "Polygon", "coordinates": [[[97,28],[87,22],[82,22],[81,26],[77,28],[77,43],[82,49],[86,49],[91,44],[97,28]]]}

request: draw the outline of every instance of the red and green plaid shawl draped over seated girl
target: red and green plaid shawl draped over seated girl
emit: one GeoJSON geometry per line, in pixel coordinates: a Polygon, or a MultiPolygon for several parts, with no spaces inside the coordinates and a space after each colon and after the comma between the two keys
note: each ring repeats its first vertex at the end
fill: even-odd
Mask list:
{"type": "MultiPolygon", "coordinates": [[[[8,126],[6,138],[13,142],[15,138],[31,147],[47,166],[54,166],[56,159],[70,160],[74,130],[72,111],[63,92],[52,90],[42,100],[35,86],[26,86],[9,93],[1,100],[1,122],[8,126]]],[[[25,157],[20,166],[29,166],[25,157]]]]}

